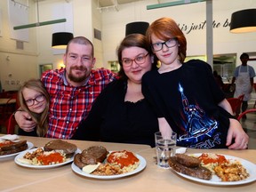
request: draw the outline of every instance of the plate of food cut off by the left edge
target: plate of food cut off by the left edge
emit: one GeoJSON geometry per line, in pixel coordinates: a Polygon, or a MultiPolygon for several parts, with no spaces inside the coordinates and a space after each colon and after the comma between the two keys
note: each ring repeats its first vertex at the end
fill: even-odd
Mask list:
{"type": "MultiPolygon", "coordinates": [[[[4,135],[7,138],[8,135],[4,135]]],[[[10,138],[11,139],[11,138],[10,138]]],[[[6,160],[13,158],[20,154],[20,152],[33,148],[34,145],[27,140],[19,140],[19,138],[15,138],[15,140],[9,140],[8,138],[5,140],[3,137],[0,141],[0,160],[6,160]]]]}

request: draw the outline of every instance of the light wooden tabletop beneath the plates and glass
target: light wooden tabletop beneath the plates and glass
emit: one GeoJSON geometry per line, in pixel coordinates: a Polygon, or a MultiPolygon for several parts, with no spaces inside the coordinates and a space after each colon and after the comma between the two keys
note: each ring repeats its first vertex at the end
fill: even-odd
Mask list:
{"type": "MultiPolygon", "coordinates": [[[[43,147],[46,142],[52,139],[20,137],[20,139],[32,142],[36,147],[43,147]]],[[[108,150],[130,150],[147,161],[146,168],[134,175],[119,178],[116,180],[91,179],[76,174],[71,169],[71,164],[66,164],[52,169],[31,169],[15,164],[12,159],[0,162],[0,191],[255,191],[256,181],[251,183],[223,186],[208,185],[180,177],[171,170],[165,170],[156,166],[155,148],[147,145],[120,144],[108,142],[93,142],[82,140],[69,140],[83,150],[93,145],[102,145],[108,150]]],[[[212,152],[228,156],[244,158],[256,164],[256,150],[200,150],[188,149],[188,153],[212,152]]]]}

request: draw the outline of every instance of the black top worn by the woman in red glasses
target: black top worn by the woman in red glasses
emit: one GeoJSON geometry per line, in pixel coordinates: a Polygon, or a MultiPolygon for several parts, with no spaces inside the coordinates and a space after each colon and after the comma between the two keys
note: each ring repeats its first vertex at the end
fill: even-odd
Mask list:
{"type": "Polygon", "coordinates": [[[155,146],[158,122],[147,100],[124,101],[127,81],[116,80],[100,93],[72,139],[155,146]]]}

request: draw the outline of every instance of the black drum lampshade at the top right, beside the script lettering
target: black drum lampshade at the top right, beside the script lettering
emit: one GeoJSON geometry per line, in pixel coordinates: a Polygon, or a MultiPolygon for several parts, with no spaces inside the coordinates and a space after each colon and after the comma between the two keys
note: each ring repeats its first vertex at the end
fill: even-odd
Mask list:
{"type": "Polygon", "coordinates": [[[231,15],[231,33],[256,32],[256,9],[233,12],[231,15]]]}

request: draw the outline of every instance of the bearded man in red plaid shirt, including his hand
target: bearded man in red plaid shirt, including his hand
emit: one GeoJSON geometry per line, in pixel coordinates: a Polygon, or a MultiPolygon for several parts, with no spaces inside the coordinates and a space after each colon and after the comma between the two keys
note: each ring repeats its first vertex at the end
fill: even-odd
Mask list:
{"type": "MultiPolygon", "coordinates": [[[[77,36],[70,40],[63,56],[66,68],[44,72],[41,80],[51,96],[46,137],[70,139],[93,101],[116,79],[108,69],[92,69],[95,61],[92,42],[77,36]]],[[[32,132],[36,124],[20,110],[15,112],[17,123],[25,132],[32,132]]]]}

